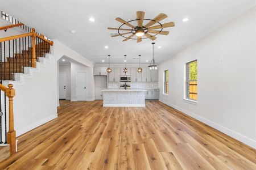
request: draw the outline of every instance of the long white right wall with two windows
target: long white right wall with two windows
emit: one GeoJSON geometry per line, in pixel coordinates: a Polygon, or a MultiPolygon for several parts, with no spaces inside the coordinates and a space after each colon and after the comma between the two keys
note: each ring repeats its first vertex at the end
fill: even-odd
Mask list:
{"type": "Polygon", "coordinates": [[[256,7],[161,63],[159,86],[163,103],[256,148],[256,7]],[[197,105],[183,100],[184,64],[193,59],[197,105]],[[166,69],[168,96],[163,95],[166,69]]]}

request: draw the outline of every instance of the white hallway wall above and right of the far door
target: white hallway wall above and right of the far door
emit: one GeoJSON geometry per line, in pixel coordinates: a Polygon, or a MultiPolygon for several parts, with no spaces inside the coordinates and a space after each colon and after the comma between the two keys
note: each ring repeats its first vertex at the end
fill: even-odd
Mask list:
{"type": "Polygon", "coordinates": [[[59,72],[67,73],[66,100],[71,100],[71,64],[69,63],[67,65],[59,65],[59,72]]]}

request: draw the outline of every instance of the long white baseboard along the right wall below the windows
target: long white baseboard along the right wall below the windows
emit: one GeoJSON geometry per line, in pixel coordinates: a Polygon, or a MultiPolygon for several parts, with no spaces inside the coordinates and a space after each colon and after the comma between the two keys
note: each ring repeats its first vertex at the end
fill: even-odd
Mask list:
{"type": "Polygon", "coordinates": [[[189,111],[187,111],[183,108],[177,107],[174,104],[168,103],[168,101],[164,101],[162,99],[159,99],[159,101],[164,103],[164,104],[169,105],[172,108],[177,109],[180,112],[183,112],[183,113],[187,114],[188,116],[191,116],[191,117],[195,118],[196,120],[198,120],[200,122],[203,122],[204,124],[207,124],[208,126],[211,126],[214,129],[217,129],[217,130],[221,131],[222,133],[225,133],[226,135],[229,135],[232,138],[237,139],[238,141],[240,141],[242,143],[245,143],[246,145],[248,145],[250,147],[253,147],[253,148],[256,149],[256,141],[254,141],[251,138],[248,138],[248,137],[246,137],[242,134],[237,133],[236,131],[230,130],[230,129],[222,126],[222,125],[219,125],[219,124],[217,124],[213,121],[210,121],[207,118],[201,117],[201,116],[199,116],[195,113],[192,113],[192,112],[189,112],[189,111]]]}

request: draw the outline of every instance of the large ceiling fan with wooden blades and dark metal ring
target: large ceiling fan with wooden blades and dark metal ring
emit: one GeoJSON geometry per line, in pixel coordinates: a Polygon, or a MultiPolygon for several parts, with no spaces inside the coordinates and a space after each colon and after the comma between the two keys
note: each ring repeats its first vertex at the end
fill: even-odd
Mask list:
{"type": "Polygon", "coordinates": [[[121,22],[122,25],[119,28],[108,28],[117,30],[118,35],[113,35],[112,37],[122,36],[125,39],[123,41],[127,40],[137,40],[137,42],[141,42],[142,39],[150,39],[154,41],[156,39],[156,35],[168,35],[169,31],[163,31],[163,28],[168,27],[174,27],[174,22],[164,23],[161,24],[160,21],[167,18],[168,16],[166,14],[159,14],[154,19],[145,19],[144,15],[145,12],[143,11],[137,11],[137,19],[130,20],[126,22],[126,20],[123,20],[121,18],[115,18],[118,22],[121,22]],[[143,25],[143,21],[147,20],[148,23],[143,25]],[[137,21],[137,26],[131,24],[132,22],[137,21]],[[158,24],[153,26],[154,24],[158,24]],[[123,26],[126,25],[130,28],[124,28],[123,26]],[[126,32],[120,32],[120,31],[126,31],[126,32]],[[127,32],[128,31],[128,32],[127,32]],[[152,35],[152,34],[153,35],[152,35]],[[137,36],[137,38],[134,38],[134,36],[137,36]]]}

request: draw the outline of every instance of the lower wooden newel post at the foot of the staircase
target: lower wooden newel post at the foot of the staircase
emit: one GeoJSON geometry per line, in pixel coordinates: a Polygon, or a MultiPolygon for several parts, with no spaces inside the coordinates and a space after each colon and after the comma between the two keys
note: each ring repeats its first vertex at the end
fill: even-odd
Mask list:
{"type": "Polygon", "coordinates": [[[13,97],[15,96],[15,90],[13,84],[8,84],[6,90],[6,96],[9,97],[9,131],[7,133],[7,143],[10,145],[10,152],[14,154],[16,152],[16,131],[14,130],[13,119],[13,97]]]}

